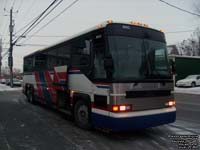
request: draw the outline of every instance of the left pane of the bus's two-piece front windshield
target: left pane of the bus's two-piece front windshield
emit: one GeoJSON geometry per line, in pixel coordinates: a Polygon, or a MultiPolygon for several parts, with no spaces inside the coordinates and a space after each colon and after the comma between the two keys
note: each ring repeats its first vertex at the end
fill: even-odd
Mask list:
{"type": "Polygon", "coordinates": [[[144,78],[145,63],[143,40],[110,36],[109,50],[114,62],[113,78],[116,80],[144,78]]]}

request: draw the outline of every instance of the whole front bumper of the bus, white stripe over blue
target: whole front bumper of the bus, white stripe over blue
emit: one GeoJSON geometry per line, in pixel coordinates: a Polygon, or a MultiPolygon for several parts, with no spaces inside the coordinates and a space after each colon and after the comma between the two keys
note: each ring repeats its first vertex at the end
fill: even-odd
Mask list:
{"type": "Polygon", "coordinates": [[[164,108],[130,113],[112,113],[110,116],[92,113],[92,123],[95,127],[114,132],[144,129],[176,120],[176,108],[164,108]]]}

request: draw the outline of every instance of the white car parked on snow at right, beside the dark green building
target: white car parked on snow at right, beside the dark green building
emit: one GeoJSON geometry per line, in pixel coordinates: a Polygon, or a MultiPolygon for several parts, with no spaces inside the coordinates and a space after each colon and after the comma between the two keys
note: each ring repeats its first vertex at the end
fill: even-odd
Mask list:
{"type": "Polygon", "coordinates": [[[176,86],[195,87],[200,85],[200,75],[189,75],[185,79],[178,80],[176,86]]]}

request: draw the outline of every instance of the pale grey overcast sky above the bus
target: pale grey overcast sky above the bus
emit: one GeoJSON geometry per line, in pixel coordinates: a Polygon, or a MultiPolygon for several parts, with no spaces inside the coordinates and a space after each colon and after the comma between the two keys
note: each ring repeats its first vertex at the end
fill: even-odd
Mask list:
{"type": "MultiPolygon", "coordinates": [[[[4,11],[12,6],[15,20],[15,33],[38,16],[53,0],[0,0],[0,36],[3,42],[9,42],[8,24],[9,17],[4,11]]],[[[194,12],[197,0],[165,0],[173,5],[194,12]]],[[[29,35],[32,35],[41,26],[47,23],[56,14],[65,9],[73,0],[63,0],[43,22],[41,22],[29,35]]],[[[103,21],[130,22],[141,21],[155,29],[163,29],[166,32],[167,44],[177,44],[187,39],[190,32],[168,33],[174,31],[194,30],[200,25],[200,18],[172,8],[159,0],[79,0],[75,5],[59,16],[56,20],[42,29],[36,35],[61,36],[61,37],[32,37],[23,39],[18,44],[39,44],[44,46],[21,46],[14,47],[14,67],[22,68],[23,57],[33,51],[52,45],[65,37],[82,32],[103,21]]],[[[19,35],[20,33],[18,33],[19,35]]],[[[27,36],[28,37],[28,36],[27,36]]],[[[3,48],[9,45],[3,44],[3,48]]],[[[6,51],[6,49],[4,49],[6,51]]],[[[7,65],[7,57],[3,59],[3,65],[7,65]]]]}

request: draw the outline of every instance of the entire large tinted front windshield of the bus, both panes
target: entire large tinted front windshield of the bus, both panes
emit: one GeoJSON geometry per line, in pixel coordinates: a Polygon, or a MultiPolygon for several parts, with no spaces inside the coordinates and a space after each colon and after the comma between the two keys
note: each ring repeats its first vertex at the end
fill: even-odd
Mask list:
{"type": "Polygon", "coordinates": [[[114,80],[142,80],[170,76],[166,44],[126,36],[109,36],[114,80]]]}

